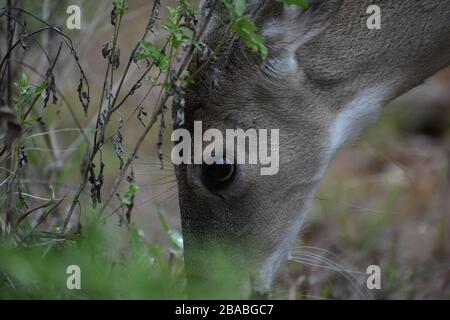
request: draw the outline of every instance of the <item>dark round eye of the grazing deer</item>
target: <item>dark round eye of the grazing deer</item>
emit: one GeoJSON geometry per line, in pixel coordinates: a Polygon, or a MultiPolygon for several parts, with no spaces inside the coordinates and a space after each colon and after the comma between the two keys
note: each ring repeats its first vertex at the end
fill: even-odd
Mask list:
{"type": "Polygon", "coordinates": [[[227,159],[222,163],[202,165],[202,180],[206,187],[211,190],[218,190],[226,187],[235,177],[236,168],[227,159]]]}

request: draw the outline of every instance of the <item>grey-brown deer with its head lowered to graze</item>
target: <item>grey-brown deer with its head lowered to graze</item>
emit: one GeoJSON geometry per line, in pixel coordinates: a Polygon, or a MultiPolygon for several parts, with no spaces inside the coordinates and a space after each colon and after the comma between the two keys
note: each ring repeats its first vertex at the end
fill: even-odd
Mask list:
{"type": "MultiPolygon", "coordinates": [[[[235,297],[266,297],[337,150],[388,102],[450,64],[448,0],[309,3],[302,9],[247,1],[245,14],[268,48],[265,59],[225,30],[225,8],[204,35],[208,47],[222,46],[186,90],[183,128],[192,132],[195,121],[223,132],[278,128],[280,163],[271,176],[229,159],[175,165],[193,297],[192,288],[224,285],[235,297]],[[380,29],[367,26],[374,4],[380,29]],[[215,250],[224,252],[238,281],[213,277],[222,267],[215,250]]],[[[198,68],[197,60],[190,68],[198,68]]]]}

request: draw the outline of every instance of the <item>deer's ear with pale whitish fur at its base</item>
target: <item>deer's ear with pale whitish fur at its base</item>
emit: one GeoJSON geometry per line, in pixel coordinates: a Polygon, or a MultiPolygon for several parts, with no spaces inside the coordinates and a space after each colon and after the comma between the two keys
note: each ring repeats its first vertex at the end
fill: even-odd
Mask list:
{"type": "Polygon", "coordinates": [[[295,53],[330,25],[343,0],[309,0],[309,8],[278,3],[272,8],[276,15],[268,15],[261,33],[266,39],[269,55],[265,69],[285,74],[296,69],[295,53]]]}

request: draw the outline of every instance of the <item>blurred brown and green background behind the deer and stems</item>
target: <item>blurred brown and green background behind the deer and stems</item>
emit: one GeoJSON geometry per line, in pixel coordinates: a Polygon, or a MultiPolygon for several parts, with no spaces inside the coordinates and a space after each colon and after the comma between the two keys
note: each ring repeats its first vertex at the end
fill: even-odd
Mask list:
{"type": "MultiPolygon", "coordinates": [[[[5,3],[0,1],[0,7],[5,3]]],[[[58,130],[75,128],[78,121],[86,128],[86,135],[92,134],[89,129],[93,127],[107,63],[101,48],[110,41],[112,32],[111,1],[25,0],[22,5],[61,26],[72,38],[91,86],[91,110],[89,117],[85,117],[76,91],[79,74],[64,48],[55,66],[58,95],[63,98],[42,111],[49,129],[54,131],[49,137],[53,150],[42,147],[42,137],[35,137],[35,148],[29,150],[30,161],[41,169],[28,181],[33,194],[42,197],[48,194],[47,179],[55,171],[61,173],[53,181],[57,196],[71,194],[79,183],[85,151],[83,140],[79,132],[58,130]],[[82,10],[81,30],[65,30],[69,4],[78,4],[82,10]]],[[[138,41],[152,6],[153,1],[129,1],[119,36],[123,59],[138,41]]],[[[36,26],[36,22],[29,21],[30,30],[36,26]]],[[[4,38],[3,25],[2,28],[4,38]]],[[[150,38],[158,43],[159,36],[161,33],[150,38]]],[[[4,39],[1,41],[3,44],[4,39]]],[[[29,50],[17,50],[13,56],[15,77],[25,72],[32,83],[41,81],[48,68],[39,46],[54,57],[61,40],[55,34],[45,33],[35,41],[30,43],[29,50]]],[[[4,50],[1,49],[2,56],[4,50]]],[[[125,86],[139,73],[137,66],[132,68],[125,86]]],[[[142,106],[150,114],[156,98],[146,95],[142,88],[121,110],[121,116],[129,119],[122,129],[125,155],[144,129],[134,114],[135,108],[142,106]]],[[[119,117],[114,121],[118,122],[119,117]]],[[[172,228],[180,229],[176,181],[169,157],[170,121],[167,119],[164,132],[164,168],[160,168],[155,148],[158,128],[149,134],[133,167],[140,191],[132,221],[148,241],[162,246],[168,240],[160,223],[161,212],[172,228]]],[[[105,168],[108,190],[117,175],[119,161],[110,145],[103,156],[113,164],[105,168]]],[[[446,69],[393,101],[385,108],[381,120],[355,145],[338,153],[296,246],[310,253],[309,262],[287,263],[276,282],[274,298],[450,299],[449,166],[450,69],[446,69]],[[365,289],[369,265],[381,267],[381,290],[365,289]]],[[[87,190],[82,204],[89,201],[87,190]]],[[[115,216],[110,219],[119,223],[115,216]]]]}

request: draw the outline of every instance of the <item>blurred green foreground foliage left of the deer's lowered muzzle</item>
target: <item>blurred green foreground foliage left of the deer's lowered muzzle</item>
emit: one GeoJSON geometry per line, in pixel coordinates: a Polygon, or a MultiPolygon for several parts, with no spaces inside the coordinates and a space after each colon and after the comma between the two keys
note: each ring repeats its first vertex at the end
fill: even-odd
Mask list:
{"type": "Polygon", "coordinates": [[[85,224],[82,235],[70,240],[36,233],[30,245],[16,247],[3,241],[0,298],[185,298],[182,260],[145,242],[141,233],[133,226],[121,239],[115,228],[95,219],[85,224]],[[127,243],[130,250],[117,250],[127,243]],[[81,269],[81,290],[66,286],[70,265],[81,269]]]}

